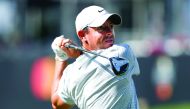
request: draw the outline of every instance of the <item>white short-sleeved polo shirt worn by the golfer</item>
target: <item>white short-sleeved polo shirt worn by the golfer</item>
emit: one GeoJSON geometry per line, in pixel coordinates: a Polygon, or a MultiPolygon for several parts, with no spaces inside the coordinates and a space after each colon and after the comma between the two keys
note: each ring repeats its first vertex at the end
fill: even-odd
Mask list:
{"type": "Polygon", "coordinates": [[[127,59],[128,70],[117,76],[108,59],[84,53],[64,70],[58,95],[65,103],[76,104],[80,109],[138,109],[132,75],[140,71],[129,45],[113,45],[94,52],[127,59]]]}

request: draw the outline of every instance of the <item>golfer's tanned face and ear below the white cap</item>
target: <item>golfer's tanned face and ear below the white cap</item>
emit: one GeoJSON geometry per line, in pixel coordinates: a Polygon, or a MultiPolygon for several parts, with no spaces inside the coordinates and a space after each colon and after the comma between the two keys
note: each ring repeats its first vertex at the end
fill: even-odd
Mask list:
{"type": "Polygon", "coordinates": [[[109,48],[114,44],[114,30],[110,21],[100,27],[88,27],[84,36],[86,43],[83,45],[88,50],[109,48]]]}

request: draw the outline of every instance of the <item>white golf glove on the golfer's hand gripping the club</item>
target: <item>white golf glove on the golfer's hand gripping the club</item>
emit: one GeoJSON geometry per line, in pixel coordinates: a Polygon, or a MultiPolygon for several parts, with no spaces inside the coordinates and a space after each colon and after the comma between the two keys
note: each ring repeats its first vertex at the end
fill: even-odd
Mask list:
{"type": "Polygon", "coordinates": [[[56,37],[51,44],[51,48],[55,53],[55,60],[58,61],[65,61],[69,58],[67,53],[58,46],[61,43],[63,37],[64,37],[63,35],[56,37]]]}

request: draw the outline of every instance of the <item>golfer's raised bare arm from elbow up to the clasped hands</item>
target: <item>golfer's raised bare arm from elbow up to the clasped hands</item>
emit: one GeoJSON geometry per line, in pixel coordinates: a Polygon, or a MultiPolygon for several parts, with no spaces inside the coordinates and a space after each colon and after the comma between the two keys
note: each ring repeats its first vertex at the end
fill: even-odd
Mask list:
{"type": "Polygon", "coordinates": [[[53,109],[70,109],[71,105],[63,102],[58,96],[57,90],[59,87],[60,79],[63,75],[64,69],[67,67],[68,58],[77,58],[80,56],[80,51],[66,48],[66,43],[72,43],[71,40],[65,39],[63,36],[56,37],[52,43],[52,49],[55,53],[55,72],[51,91],[51,103],[53,109]]]}

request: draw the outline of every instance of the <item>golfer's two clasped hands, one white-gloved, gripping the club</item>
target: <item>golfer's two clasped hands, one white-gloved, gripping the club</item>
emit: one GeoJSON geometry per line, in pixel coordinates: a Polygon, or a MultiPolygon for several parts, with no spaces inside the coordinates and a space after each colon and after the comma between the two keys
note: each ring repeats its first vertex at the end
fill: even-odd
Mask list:
{"type": "Polygon", "coordinates": [[[56,37],[52,42],[52,49],[55,53],[55,59],[58,61],[66,61],[70,58],[77,58],[81,52],[75,49],[66,48],[66,43],[72,43],[71,40],[64,38],[63,35],[56,37]]]}

